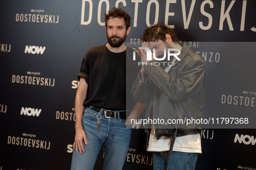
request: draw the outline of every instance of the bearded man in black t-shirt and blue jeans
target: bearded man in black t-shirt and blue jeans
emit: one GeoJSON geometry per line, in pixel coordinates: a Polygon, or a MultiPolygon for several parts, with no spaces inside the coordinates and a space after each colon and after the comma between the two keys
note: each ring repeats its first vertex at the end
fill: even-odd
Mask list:
{"type": "Polygon", "coordinates": [[[89,49],[78,74],[75,143],[71,170],[93,170],[104,146],[104,169],[122,170],[130,145],[126,128],[126,45],[130,16],[113,8],[105,14],[108,44],[89,49]],[[79,151],[79,153],[78,153],[79,151]]]}

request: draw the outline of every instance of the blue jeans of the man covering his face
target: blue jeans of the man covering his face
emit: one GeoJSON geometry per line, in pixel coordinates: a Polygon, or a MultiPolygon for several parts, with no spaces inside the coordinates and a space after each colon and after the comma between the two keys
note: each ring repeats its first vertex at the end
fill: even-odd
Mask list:
{"type": "MultiPolygon", "coordinates": [[[[154,170],[166,170],[169,151],[153,152],[154,170]]],[[[168,170],[194,170],[198,154],[172,151],[168,170]]]]}

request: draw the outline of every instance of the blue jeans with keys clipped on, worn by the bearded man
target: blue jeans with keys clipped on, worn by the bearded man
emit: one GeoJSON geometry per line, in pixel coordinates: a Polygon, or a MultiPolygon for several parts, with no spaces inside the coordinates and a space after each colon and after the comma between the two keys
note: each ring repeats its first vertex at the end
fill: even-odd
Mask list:
{"type": "Polygon", "coordinates": [[[102,109],[100,113],[97,113],[88,107],[85,108],[82,126],[88,145],[85,145],[83,141],[84,153],[82,154],[79,151],[78,154],[75,150],[73,151],[71,170],[93,170],[101,145],[104,150],[103,169],[122,170],[131,138],[131,129],[126,128],[124,122],[125,120],[120,118],[105,118],[102,109]],[[99,118],[100,129],[97,131],[99,118]]]}

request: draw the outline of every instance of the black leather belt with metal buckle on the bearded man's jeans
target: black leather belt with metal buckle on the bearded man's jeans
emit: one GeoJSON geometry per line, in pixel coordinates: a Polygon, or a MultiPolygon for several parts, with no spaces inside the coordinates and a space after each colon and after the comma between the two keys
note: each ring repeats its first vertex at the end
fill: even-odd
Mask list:
{"type": "MultiPolygon", "coordinates": [[[[99,113],[101,110],[100,107],[96,107],[96,106],[90,106],[89,108],[92,110],[95,110],[96,112],[99,112],[99,113]]],[[[110,117],[118,118],[117,112],[119,112],[120,119],[126,119],[126,111],[123,111],[123,110],[120,110],[120,111],[114,110],[113,111],[113,110],[106,110],[106,109],[102,110],[102,113],[104,113],[105,118],[110,118],[110,117]]]]}

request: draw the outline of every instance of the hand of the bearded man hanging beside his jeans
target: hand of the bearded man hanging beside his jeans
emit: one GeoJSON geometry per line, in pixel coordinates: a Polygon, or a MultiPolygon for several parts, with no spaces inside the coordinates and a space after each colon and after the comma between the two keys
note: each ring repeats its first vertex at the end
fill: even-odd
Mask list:
{"type": "Polygon", "coordinates": [[[75,152],[78,153],[78,149],[80,154],[84,152],[84,146],[83,146],[83,139],[84,139],[84,144],[87,145],[87,139],[84,133],[83,128],[78,128],[75,130],[75,142],[74,142],[74,148],[75,152]]]}

